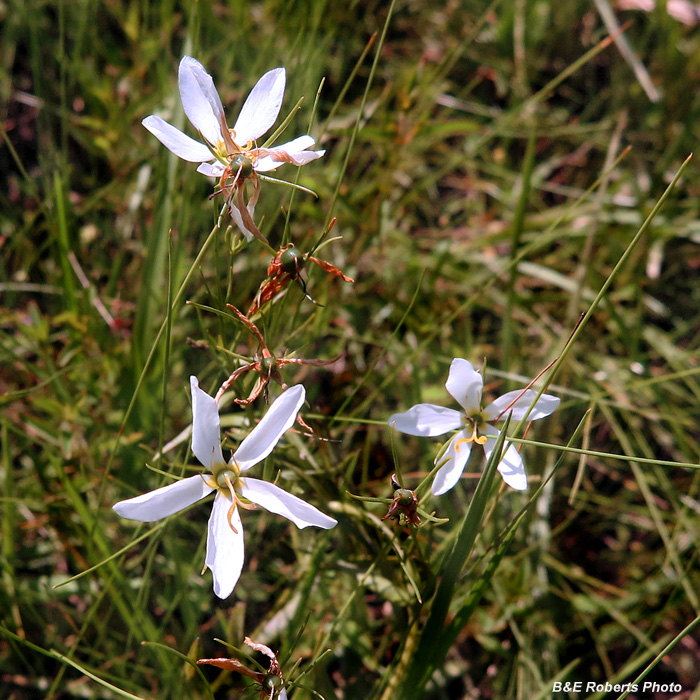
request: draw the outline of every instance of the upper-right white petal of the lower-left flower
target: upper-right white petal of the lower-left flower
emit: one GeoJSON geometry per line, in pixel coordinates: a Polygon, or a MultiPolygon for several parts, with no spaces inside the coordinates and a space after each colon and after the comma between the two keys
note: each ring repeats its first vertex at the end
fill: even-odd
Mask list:
{"type": "Polygon", "coordinates": [[[279,439],[294,425],[306,392],[301,384],[283,391],[250,435],[238,446],[232,460],[241,471],[250,469],[272,452],[279,439]]]}

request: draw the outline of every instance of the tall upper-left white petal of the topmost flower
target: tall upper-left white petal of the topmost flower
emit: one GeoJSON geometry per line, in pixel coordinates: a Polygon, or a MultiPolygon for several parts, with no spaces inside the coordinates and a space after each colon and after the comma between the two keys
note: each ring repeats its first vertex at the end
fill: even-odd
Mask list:
{"type": "MultiPolygon", "coordinates": [[[[187,118],[202,136],[215,146],[221,141],[221,124],[226,122],[221,98],[204,66],[184,56],[178,70],[180,99],[187,118]]],[[[209,160],[209,159],[207,159],[209,160]]]]}

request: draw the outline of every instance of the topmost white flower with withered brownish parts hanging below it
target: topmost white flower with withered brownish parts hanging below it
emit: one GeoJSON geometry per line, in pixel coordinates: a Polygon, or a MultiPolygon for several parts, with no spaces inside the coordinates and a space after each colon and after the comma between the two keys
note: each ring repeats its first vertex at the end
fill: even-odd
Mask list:
{"type": "MultiPolygon", "coordinates": [[[[309,151],[314,145],[311,136],[299,136],[274,148],[257,148],[255,141],[266,133],[277,119],[285,85],[284,68],[275,68],[258,80],[243,105],[233,129],[226,124],[224,108],[214,81],[199,61],[184,56],[178,70],[180,99],[187,118],[197,129],[204,143],[195,141],[160,117],[152,114],[142,124],[170,151],[183,160],[201,163],[197,172],[221,178],[220,188],[230,177],[234,185],[253,173],[266,173],[283,163],[304,165],[320,158],[325,151],[309,151]]],[[[246,205],[253,216],[256,193],[246,205]]],[[[243,221],[239,206],[229,201],[231,214],[248,240],[253,232],[243,221]]],[[[247,218],[247,217],[246,217],[247,218]]]]}

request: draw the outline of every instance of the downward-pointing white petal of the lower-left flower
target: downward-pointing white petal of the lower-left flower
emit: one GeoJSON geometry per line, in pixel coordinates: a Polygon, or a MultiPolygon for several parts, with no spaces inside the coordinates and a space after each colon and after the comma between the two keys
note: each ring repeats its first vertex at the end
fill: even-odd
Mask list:
{"type": "Polygon", "coordinates": [[[228,598],[233,593],[245,556],[239,509],[236,508],[231,516],[231,523],[237,531],[234,532],[228,522],[230,508],[231,499],[219,491],[207,527],[207,555],[204,562],[214,576],[214,593],[219,598],[228,598]]]}

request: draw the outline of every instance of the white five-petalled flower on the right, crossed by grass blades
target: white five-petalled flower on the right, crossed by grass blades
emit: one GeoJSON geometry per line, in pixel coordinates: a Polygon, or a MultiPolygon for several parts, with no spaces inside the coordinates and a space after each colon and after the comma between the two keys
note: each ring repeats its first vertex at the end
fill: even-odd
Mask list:
{"type": "MultiPolygon", "coordinates": [[[[431,490],[436,496],[449,491],[459,481],[469,459],[472,442],[483,445],[486,459],[489,459],[500,435],[500,431],[489,426],[489,423],[500,420],[503,413],[510,413],[512,420],[519,421],[529,412],[528,420],[539,420],[548,416],[559,405],[559,399],[548,394],[542,394],[533,405],[537,393],[527,389],[509,391],[489,406],[481,408],[484,380],[470,362],[459,357],[452,361],[445,388],[462,406],[462,411],[421,403],[389,418],[389,425],[408,435],[433,437],[459,429],[440,459],[447,461],[440,467],[433,481],[431,490]],[[484,433],[487,433],[488,437],[484,433]]],[[[523,460],[510,442],[504,444],[498,471],[511,488],[518,491],[527,488],[523,460]]]]}

